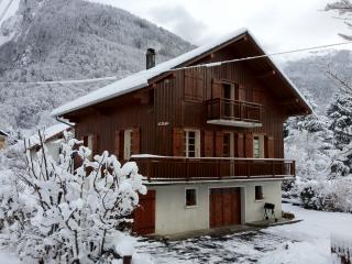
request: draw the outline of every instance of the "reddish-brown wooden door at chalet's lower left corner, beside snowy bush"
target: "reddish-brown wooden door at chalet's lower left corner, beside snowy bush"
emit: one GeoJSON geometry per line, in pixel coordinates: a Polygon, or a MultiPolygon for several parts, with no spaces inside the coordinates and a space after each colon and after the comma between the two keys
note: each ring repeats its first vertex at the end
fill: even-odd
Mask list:
{"type": "Polygon", "coordinates": [[[138,234],[155,233],[155,190],[140,195],[140,206],[134,210],[133,232],[138,234]]]}

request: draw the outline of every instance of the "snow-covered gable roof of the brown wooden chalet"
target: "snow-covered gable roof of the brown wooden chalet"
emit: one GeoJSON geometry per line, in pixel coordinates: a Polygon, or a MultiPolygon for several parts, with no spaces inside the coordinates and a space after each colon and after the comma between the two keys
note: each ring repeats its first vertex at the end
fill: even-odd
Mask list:
{"type": "MultiPolygon", "coordinates": [[[[151,69],[145,69],[142,72],[139,72],[136,74],[133,74],[127,78],[123,78],[121,80],[114,81],[108,86],[105,86],[98,90],[95,90],[92,92],[89,92],[86,96],[82,96],[76,100],[73,100],[66,105],[63,105],[52,111],[52,116],[59,117],[79,109],[84,109],[86,107],[139,90],[141,88],[147,87],[148,80],[160,76],[161,74],[167,73],[168,70],[180,66],[196,57],[199,57],[207,52],[221,46],[228,42],[234,41],[241,36],[244,36],[245,34],[250,35],[255,44],[263,51],[262,46],[258,44],[258,42],[255,40],[253,34],[248,29],[240,29],[234,32],[232,32],[229,35],[222,36],[218,40],[210,41],[209,43],[197,47],[188,53],[185,53],[176,58],[169,59],[167,62],[161,63],[156,65],[155,67],[151,69]]],[[[282,74],[284,79],[288,82],[288,85],[295,90],[297,96],[304,101],[304,103],[307,106],[307,108],[311,111],[311,107],[306,101],[305,97],[299,92],[299,90],[296,88],[296,86],[290,81],[290,79],[284,74],[284,72],[270,58],[270,62],[276,67],[276,69],[282,74]]]]}

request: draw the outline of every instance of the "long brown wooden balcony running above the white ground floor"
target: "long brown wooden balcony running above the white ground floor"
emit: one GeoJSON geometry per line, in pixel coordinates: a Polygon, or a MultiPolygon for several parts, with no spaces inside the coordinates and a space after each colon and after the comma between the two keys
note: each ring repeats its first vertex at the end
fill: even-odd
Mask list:
{"type": "Polygon", "coordinates": [[[150,182],[295,177],[295,161],[279,158],[132,156],[150,182]]]}

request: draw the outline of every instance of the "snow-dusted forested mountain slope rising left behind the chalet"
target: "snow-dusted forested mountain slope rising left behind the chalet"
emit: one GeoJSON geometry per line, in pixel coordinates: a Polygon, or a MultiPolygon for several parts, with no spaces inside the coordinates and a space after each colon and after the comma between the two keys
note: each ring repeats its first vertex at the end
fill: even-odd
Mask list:
{"type": "MultiPolygon", "coordinates": [[[[14,35],[0,46],[0,81],[124,77],[145,67],[147,47],[157,63],[194,47],[127,11],[82,0],[21,1],[11,23],[12,31],[7,23],[0,30],[14,35]]],[[[52,123],[53,108],[109,82],[0,85],[0,127],[52,123]]]]}

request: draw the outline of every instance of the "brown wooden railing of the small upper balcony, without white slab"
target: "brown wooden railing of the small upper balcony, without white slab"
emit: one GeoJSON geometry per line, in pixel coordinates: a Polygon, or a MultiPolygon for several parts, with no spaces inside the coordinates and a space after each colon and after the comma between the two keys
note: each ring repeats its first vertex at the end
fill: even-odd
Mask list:
{"type": "Polygon", "coordinates": [[[207,102],[208,120],[235,120],[260,123],[263,106],[254,102],[216,98],[207,102]]]}

